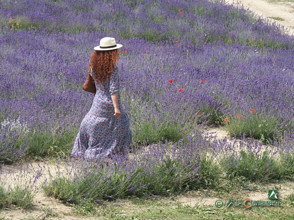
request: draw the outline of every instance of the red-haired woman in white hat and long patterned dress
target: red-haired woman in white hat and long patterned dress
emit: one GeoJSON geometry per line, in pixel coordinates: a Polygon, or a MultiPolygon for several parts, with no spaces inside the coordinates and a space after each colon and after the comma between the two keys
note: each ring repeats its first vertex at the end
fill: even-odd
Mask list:
{"type": "Polygon", "coordinates": [[[129,118],[120,101],[118,48],[114,38],[103,38],[94,47],[90,73],[96,94],[83,119],[71,156],[97,161],[113,154],[125,154],[132,139],[129,118]]]}

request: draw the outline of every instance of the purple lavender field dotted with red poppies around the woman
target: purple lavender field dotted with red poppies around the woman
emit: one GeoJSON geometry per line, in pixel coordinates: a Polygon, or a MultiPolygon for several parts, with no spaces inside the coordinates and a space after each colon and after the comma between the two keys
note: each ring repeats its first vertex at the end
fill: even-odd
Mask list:
{"type": "Polygon", "coordinates": [[[294,36],[283,27],[224,1],[1,1],[0,12],[4,163],[66,160],[93,100],[82,90],[93,47],[105,36],[124,45],[121,97],[136,159],[90,172],[74,162],[75,178],[53,178],[48,195],[166,195],[214,187],[224,169],[251,181],[294,177],[294,36]],[[243,144],[201,135],[215,125],[243,144]],[[83,193],[62,195],[61,185],[83,193]]]}

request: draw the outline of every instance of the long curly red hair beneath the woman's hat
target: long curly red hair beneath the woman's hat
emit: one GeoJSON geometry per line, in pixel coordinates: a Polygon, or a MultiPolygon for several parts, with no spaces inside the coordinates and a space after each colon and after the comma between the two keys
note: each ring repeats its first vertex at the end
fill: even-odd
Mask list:
{"type": "Polygon", "coordinates": [[[92,77],[103,84],[112,74],[119,60],[118,49],[94,50],[90,57],[89,68],[92,67],[92,77]]]}

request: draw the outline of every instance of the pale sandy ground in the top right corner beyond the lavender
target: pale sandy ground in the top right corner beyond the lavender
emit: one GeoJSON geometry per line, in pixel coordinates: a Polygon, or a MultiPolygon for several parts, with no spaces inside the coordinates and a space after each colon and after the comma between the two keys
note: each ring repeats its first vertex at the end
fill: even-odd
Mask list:
{"type": "Polygon", "coordinates": [[[277,24],[283,25],[289,30],[289,34],[294,34],[294,2],[268,3],[266,0],[226,0],[228,4],[243,5],[245,9],[250,9],[257,16],[268,18],[277,24]],[[270,17],[284,19],[275,20],[270,17]]]}

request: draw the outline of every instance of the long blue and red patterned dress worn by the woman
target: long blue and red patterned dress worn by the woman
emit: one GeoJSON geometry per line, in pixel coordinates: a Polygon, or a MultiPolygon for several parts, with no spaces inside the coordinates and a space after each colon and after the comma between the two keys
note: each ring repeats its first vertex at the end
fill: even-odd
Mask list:
{"type": "MultiPolygon", "coordinates": [[[[91,70],[92,74],[92,70],[91,70]]],[[[104,84],[96,85],[96,94],[90,111],[83,119],[71,156],[99,160],[112,154],[125,154],[132,139],[130,122],[120,101],[118,68],[104,84]],[[118,93],[120,118],[114,116],[111,95],[118,93]]]]}

